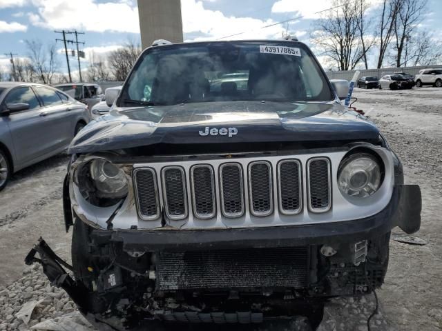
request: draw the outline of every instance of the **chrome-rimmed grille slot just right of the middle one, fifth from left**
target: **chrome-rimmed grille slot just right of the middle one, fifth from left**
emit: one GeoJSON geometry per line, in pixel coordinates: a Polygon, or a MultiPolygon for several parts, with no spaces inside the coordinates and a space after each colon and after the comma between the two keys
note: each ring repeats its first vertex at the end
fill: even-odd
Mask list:
{"type": "Polygon", "coordinates": [[[254,216],[267,216],[273,212],[271,177],[271,165],[268,161],[249,163],[249,203],[250,212],[254,216]]]}

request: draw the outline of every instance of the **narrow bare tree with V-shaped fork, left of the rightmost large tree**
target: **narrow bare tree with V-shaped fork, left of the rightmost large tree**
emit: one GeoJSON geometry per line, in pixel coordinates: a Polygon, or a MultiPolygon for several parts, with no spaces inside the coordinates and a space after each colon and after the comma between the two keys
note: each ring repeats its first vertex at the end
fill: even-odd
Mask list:
{"type": "Polygon", "coordinates": [[[383,0],[380,15],[381,21],[377,29],[379,40],[378,69],[382,67],[385,54],[394,36],[394,24],[398,12],[401,10],[402,3],[403,0],[383,0]]]}

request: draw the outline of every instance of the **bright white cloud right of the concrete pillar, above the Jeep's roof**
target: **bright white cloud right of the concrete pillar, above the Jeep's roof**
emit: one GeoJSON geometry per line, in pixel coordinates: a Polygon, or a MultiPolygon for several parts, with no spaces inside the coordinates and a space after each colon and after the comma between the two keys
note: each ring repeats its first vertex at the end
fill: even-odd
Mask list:
{"type": "Polygon", "coordinates": [[[279,38],[284,31],[284,28],[279,25],[262,28],[276,23],[271,19],[262,21],[251,17],[227,17],[218,10],[205,9],[204,4],[196,0],[182,0],[181,11],[183,32],[185,34],[204,34],[204,37],[196,37],[186,41],[213,40],[240,32],[245,33],[226,38],[226,40],[279,38]]]}

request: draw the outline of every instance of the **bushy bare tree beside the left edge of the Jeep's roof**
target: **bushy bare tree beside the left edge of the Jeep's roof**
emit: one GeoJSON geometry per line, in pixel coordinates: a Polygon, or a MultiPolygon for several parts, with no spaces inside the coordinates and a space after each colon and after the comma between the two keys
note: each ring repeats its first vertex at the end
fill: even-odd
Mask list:
{"type": "Polygon", "coordinates": [[[124,47],[109,54],[109,70],[116,81],[124,81],[140,56],[140,44],[128,41],[124,47]]]}

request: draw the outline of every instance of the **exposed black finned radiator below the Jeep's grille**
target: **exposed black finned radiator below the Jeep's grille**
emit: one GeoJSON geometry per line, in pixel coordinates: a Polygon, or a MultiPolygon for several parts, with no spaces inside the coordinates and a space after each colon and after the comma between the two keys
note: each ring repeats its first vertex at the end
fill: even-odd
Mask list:
{"type": "Polygon", "coordinates": [[[160,290],[216,288],[305,288],[309,248],[260,248],[162,252],[160,290]]]}

